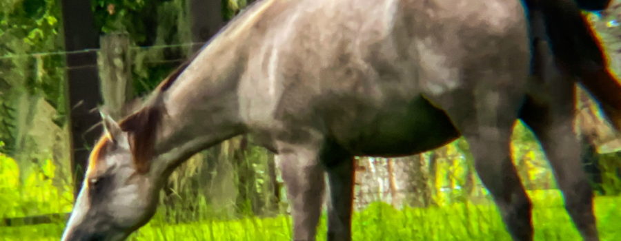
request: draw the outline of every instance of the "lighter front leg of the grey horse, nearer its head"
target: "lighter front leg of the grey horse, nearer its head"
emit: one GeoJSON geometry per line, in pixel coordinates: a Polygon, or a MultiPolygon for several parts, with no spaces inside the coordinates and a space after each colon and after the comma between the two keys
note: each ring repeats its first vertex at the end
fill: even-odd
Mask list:
{"type": "Polygon", "coordinates": [[[276,158],[287,187],[293,240],[315,240],[324,192],[324,170],[318,161],[318,151],[290,146],[279,149],[276,158]]]}

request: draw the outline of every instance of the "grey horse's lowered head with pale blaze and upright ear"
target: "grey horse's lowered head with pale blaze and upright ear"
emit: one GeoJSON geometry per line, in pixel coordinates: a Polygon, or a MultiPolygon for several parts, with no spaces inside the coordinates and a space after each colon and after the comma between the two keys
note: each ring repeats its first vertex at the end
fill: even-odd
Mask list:
{"type": "MultiPolygon", "coordinates": [[[[134,115],[140,116],[140,115],[134,115]]],[[[124,240],[156,209],[161,183],[145,165],[140,132],[131,117],[116,123],[102,115],[105,132],[92,149],[88,169],[62,240],[124,240]]]]}

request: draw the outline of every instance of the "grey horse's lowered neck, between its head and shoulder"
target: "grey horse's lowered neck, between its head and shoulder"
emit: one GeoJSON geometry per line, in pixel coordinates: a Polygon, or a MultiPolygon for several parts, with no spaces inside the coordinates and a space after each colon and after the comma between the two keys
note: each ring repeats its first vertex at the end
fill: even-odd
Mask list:
{"type": "Polygon", "coordinates": [[[175,167],[192,154],[246,132],[239,113],[237,87],[248,73],[253,49],[268,34],[267,26],[288,1],[266,0],[231,21],[225,30],[193,59],[172,84],[164,83],[161,102],[166,109],[159,125],[154,153],[175,167]]]}

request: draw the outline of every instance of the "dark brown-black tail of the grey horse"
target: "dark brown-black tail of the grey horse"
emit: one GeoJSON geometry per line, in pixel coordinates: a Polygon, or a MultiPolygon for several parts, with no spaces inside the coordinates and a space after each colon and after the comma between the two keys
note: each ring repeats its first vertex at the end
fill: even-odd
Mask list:
{"type": "Polygon", "coordinates": [[[621,132],[621,82],[608,68],[600,39],[573,1],[539,3],[558,66],[578,77],[608,121],[621,132]]]}

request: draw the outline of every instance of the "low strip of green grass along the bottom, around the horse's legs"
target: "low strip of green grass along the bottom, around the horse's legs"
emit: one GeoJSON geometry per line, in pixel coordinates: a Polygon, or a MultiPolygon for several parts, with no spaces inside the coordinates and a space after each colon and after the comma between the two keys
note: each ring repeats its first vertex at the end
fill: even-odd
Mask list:
{"type": "MultiPolygon", "coordinates": [[[[535,204],[535,240],[580,240],[562,207],[558,191],[531,193],[535,204]]],[[[596,199],[595,211],[602,240],[621,240],[621,198],[596,199]]],[[[139,229],[130,240],[290,240],[291,220],[242,218],[167,224],[161,215],[139,229]]],[[[63,224],[28,227],[0,227],[0,240],[57,240],[63,224]]],[[[318,240],[325,240],[325,220],[318,228],[318,240]]],[[[375,202],[354,214],[354,240],[510,240],[495,207],[490,204],[460,203],[426,209],[397,210],[375,202]]]]}

